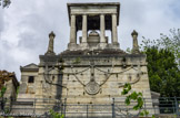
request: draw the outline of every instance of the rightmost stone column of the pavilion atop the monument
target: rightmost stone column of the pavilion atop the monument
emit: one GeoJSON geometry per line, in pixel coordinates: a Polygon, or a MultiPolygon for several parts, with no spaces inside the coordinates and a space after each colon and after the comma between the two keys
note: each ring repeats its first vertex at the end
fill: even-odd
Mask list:
{"type": "Polygon", "coordinates": [[[112,44],[119,44],[117,34],[117,14],[112,14],[112,44]]]}

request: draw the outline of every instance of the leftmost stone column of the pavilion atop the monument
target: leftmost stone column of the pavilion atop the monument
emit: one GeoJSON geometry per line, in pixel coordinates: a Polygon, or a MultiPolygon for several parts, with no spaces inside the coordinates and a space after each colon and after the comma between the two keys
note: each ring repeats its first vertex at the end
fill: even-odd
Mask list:
{"type": "Polygon", "coordinates": [[[70,43],[77,44],[77,26],[76,26],[76,15],[71,14],[71,30],[70,30],[70,43]]]}

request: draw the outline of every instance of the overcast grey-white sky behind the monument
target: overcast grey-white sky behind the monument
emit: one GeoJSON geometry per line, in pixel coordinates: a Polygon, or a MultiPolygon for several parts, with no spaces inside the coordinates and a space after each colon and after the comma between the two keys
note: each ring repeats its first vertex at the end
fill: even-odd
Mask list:
{"type": "Polygon", "coordinates": [[[0,8],[0,69],[16,72],[20,66],[39,63],[48,47],[48,34],[56,33],[57,54],[67,49],[69,21],[67,2],[120,2],[120,47],[132,47],[131,32],[158,39],[180,28],[180,0],[11,0],[8,9],[0,8]]]}

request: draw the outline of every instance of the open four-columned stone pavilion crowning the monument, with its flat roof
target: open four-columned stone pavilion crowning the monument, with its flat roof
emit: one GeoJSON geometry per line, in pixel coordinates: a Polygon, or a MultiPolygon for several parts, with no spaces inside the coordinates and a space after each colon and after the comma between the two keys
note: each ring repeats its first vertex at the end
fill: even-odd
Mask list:
{"type": "Polygon", "coordinates": [[[119,49],[117,26],[119,23],[119,3],[69,3],[69,21],[70,21],[70,43],[68,50],[94,50],[108,49],[106,40],[106,30],[110,30],[111,49],[119,49]],[[82,30],[80,44],[77,44],[77,32],[82,30]],[[99,46],[93,47],[88,43],[88,31],[99,30],[99,46]]]}

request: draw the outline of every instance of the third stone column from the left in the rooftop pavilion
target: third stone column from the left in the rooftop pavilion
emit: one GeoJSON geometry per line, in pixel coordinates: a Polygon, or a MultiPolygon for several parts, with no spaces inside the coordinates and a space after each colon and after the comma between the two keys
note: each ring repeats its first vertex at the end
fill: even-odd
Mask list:
{"type": "Polygon", "coordinates": [[[104,14],[100,14],[100,43],[106,43],[106,22],[104,22],[104,14]]]}

